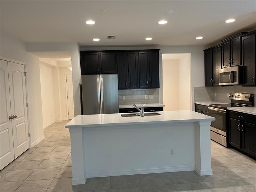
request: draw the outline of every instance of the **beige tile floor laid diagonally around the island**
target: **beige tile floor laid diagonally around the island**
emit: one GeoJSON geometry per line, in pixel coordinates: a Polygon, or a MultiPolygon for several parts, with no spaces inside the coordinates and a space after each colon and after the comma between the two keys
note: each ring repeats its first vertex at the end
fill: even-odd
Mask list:
{"type": "Polygon", "coordinates": [[[0,172],[1,192],[255,192],[256,161],[211,141],[211,176],[194,171],[88,178],[71,185],[70,135],[64,125],[44,129],[45,139],[0,172]]]}

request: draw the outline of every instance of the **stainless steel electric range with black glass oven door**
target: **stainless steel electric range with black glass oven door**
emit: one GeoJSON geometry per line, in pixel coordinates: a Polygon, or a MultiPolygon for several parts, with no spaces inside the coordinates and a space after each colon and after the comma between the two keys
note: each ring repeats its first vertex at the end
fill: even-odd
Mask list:
{"type": "Polygon", "coordinates": [[[229,104],[209,105],[210,116],[215,117],[211,124],[211,139],[227,147],[227,108],[230,107],[251,107],[254,106],[253,94],[230,93],[229,104]]]}

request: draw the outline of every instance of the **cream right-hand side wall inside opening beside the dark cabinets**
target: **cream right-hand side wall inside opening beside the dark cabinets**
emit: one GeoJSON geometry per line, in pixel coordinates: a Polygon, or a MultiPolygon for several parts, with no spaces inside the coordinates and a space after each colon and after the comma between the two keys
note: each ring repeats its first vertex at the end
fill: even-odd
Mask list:
{"type": "Polygon", "coordinates": [[[179,110],[191,110],[190,55],[179,59],[179,110]]]}

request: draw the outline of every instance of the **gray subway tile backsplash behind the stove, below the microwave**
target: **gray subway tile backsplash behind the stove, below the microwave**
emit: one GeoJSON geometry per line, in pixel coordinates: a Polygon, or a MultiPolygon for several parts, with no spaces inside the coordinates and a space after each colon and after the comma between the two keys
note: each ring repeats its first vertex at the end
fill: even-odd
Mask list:
{"type": "MultiPolygon", "coordinates": [[[[195,101],[218,101],[222,103],[230,103],[228,98],[229,93],[246,92],[256,96],[256,87],[226,86],[226,87],[195,87],[195,101]],[[214,96],[216,93],[216,96],[214,96]]],[[[254,97],[254,105],[256,105],[256,97],[254,97]]]]}

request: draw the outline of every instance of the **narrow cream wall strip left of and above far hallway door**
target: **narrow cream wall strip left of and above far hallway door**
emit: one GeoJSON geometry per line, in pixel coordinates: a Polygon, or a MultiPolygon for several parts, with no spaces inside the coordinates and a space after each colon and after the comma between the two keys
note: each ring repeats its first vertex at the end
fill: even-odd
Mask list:
{"type": "Polygon", "coordinates": [[[62,115],[62,120],[68,120],[68,115],[67,115],[67,98],[66,98],[67,97],[67,93],[66,93],[66,77],[65,77],[65,75],[72,75],[72,71],[70,71],[67,67],[59,67],[59,72],[60,72],[60,77],[59,78],[60,78],[60,95],[61,95],[61,97],[60,97],[60,101],[61,101],[61,115],[62,115]]]}

